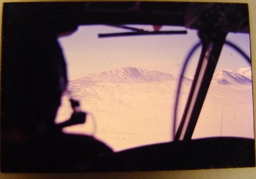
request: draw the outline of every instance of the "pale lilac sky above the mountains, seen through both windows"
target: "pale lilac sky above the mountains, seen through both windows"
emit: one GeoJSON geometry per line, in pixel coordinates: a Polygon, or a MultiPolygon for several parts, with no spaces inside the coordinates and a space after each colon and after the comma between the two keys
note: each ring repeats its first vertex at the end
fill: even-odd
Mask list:
{"type": "MultiPolygon", "coordinates": [[[[153,30],[152,25],[129,26],[153,30]]],[[[98,38],[100,33],[129,31],[106,25],[80,26],[72,35],[59,39],[68,65],[68,77],[74,79],[127,66],[179,75],[186,55],[199,41],[197,31],[171,26],[162,27],[161,30],[187,30],[188,34],[98,38]]],[[[250,55],[249,34],[230,33],[227,39],[250,55]]],[[[200,49],[189,63],[193,71],[199,54],[200,49]]],[[[248,63],[237,52],[224,47],[218,70],[241,67],[248,67],[248,63]]],[[[193,75],[193,71],[188,71],[187,76],[193,75]]]]}

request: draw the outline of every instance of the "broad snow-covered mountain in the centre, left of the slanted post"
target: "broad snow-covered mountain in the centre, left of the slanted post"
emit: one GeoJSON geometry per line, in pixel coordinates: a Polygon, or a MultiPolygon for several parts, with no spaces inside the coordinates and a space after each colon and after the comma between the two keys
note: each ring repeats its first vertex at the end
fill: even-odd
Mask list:
{"type": "MultiPolygon", "coordinates": [[[[83,82],[166,82],[177,81],[177,78],[169,73],[150,71],[147,69],[125,67],[78,78],[76,81],[83,82]]],[[[185,78],[185,81],[191,81],[185,78]]]]}

